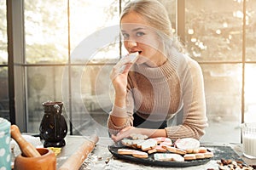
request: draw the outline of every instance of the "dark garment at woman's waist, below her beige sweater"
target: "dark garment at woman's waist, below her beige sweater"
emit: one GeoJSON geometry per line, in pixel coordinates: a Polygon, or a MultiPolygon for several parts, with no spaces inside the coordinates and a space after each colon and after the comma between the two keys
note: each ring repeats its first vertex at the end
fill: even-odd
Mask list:
{"type": "Polygon", "coordinates": [[[143,119],[141,116],[138,116],[137,113],[133,114],[133,127],[140,128],[153,128],[153,129],[164,129],[167,127],[166,121],[154,122],[143,119]]]}

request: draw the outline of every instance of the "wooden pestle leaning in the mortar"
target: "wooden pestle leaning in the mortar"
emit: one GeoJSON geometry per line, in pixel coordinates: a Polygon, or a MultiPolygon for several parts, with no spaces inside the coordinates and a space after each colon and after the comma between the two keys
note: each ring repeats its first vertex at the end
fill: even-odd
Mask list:
{"type": "Polygon", "coordinates": [[[20,134],[20,129],[16,125],[10,127],[11,137],[15,139],[20,146],[22,154],[26,157],[39,157],[41,156],[36,148],[24,139],[20,134]]]}

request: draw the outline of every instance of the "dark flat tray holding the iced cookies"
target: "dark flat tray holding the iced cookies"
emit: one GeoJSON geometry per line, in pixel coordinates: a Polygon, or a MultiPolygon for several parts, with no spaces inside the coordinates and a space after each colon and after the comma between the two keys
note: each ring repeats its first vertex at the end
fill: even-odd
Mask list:
{"type": "Polygon", "coordinates": [[[113,156],[116,156],[117,158],[125,160],[125,161],[132,161],[132,162],[141,163],[143,165],[149,165],[149,166],[192,167],[192,166],[204,165],[208,161],[211,160],[211,158],[205,158],[205,159],[198,159],[198,160],[192,160],[192,161],[155,161],[154,160],[154,153],[153,154],[148,154],[148,158],[137,158],[137,157],[129,156],[129,155],[120,155],[118,153],[118,150],[120,148],[122,148],[122,149],[131,149],[131,148],[129,148],[127,146],[124,146],[122,144],[108,145],[108,150],[112,153],[113,156]]]}

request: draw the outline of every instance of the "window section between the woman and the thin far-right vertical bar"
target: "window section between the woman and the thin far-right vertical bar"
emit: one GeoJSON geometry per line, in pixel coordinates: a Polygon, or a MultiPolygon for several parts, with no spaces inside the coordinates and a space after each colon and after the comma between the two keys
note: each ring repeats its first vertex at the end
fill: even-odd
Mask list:
{"type": "Polygon", "coordinates": [[[219,139],[214,140],[227,142],[224,136],[230,134],[230,142],[239,142],[242,3],[187,0],[185,4],[187,48],[191,57],[200,62],[205,80],[210,131],[206,137],[218,133],[219,139]]]}

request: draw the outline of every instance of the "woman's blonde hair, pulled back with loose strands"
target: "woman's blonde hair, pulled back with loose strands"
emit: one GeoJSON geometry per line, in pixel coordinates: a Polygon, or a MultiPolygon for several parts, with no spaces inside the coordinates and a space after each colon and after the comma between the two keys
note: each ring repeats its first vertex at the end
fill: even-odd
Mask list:
{"type": "Polygon", "coordinates": [[[148,25],[156,30],[156,33],[163,41],[166,54],[172,54],[173,48],[177,49],[178,52],[184,53],[182,43],[173,35],[171,20],[162,3],[157,0],[133,0],[126,4],[120,15],[120,20],[131,11],[143,17],[148,22],[148,25]]]}

